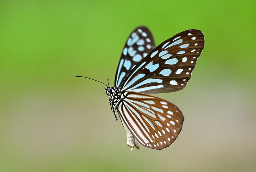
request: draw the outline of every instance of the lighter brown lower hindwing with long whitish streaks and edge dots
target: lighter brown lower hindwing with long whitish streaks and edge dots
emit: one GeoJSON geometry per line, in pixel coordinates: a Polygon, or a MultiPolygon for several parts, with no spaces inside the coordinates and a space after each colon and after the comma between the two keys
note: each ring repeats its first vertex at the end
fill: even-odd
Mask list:
{"type": "Polygon", "coordinates": [[[124,92],[118,114],[133,136],[145,147],[169,147],[181,132],[181,110],[164,99],[138,92],[124,92]]]}

